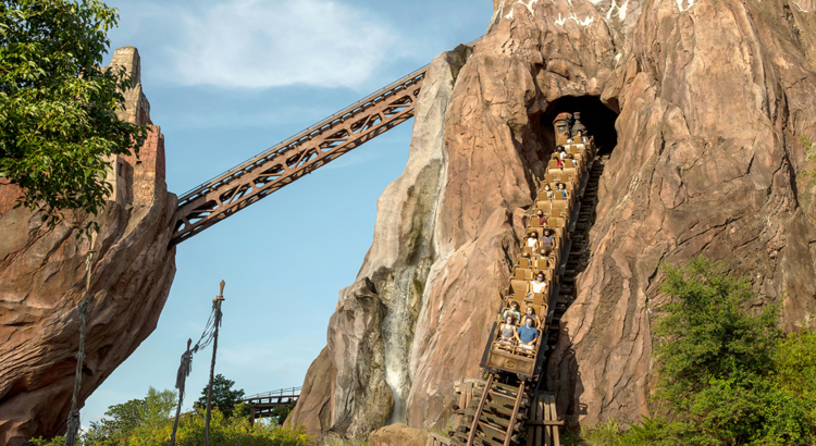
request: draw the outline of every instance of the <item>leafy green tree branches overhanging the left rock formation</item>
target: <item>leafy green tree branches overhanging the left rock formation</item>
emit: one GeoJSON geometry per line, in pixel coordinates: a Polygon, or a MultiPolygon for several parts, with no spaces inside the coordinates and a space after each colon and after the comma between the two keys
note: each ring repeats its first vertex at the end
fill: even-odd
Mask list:
{"type": "Polygon", "coordinates": [[[129,76],[100,66],[118,18],[99,0],[0,4],[0,176],[51,227],[64,210],[97,214],[111,190],[103,157],[137,153],[147,135],[116,119],[129,76]]]}

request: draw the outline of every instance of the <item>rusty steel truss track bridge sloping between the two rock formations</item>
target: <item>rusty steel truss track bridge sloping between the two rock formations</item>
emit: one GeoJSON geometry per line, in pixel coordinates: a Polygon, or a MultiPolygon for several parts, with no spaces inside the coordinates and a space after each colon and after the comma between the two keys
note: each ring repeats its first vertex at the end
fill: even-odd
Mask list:
{"type": "Polygon", "coordinates": [[[426,72],[423,66],[181,196],[170,246],[413,117],[426,72]]]}

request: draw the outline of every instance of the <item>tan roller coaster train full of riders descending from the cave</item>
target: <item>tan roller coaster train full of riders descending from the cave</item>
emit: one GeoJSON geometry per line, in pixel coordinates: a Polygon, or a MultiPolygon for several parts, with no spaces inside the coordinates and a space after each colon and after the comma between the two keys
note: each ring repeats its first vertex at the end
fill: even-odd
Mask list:
{"type": "MultiPolygon", "coordinates": [[[[571,246],[570,235],[576,228],[580,208],[579,199],[583,196],[589,179],[589,172],[595,158],[595,146],[586,128],[581,124],[580,113],[560,113],[553,122],[556,150],[547,163],[544,181],[537,187],[534,206],[527,216],[526,237],[521,253],[514,265],[503,305],[493,324],[491,336],[484,348],[481,367],[487,372],[500,375],[505,381],[528,382],[532,388],[540,383],[546,357],[547,331],[553,321],[553,313],[560,289],[567,258],[571,246]],[[544,216],[541,219],[540,212],[544,216]],[[535,241],[529,241],[531,235],[539,238],[545,230],[553,235],[552,252],[542,255],[534,250],[535,241]],[[533,245],[533,246],[531,246],[533,245]],[[533,289],[533,277],[544,274],[544,289],[533,289]],[[514,312],[517,305],[520,317],[514,312]],[[509,326],[503,326],[506,315],[514,317],[512,324],[518,330],[524,324],[528,308],[536,318],[534,329],[537,337],[532,345],[522,345],[518,337],[510,340],[502,336],[509,326]]],[[[546,240],[549,243],[549,240],[546,240]]],[[[539,240],[540,247],[545,244],[539,240]]],[[[540,248],[541,249],[541,248],[540,248]]],[[[547,249],[545,248],[545,251],[547,249]]],[[[541,283],[535,284],[541,288],[541,283]]]]}

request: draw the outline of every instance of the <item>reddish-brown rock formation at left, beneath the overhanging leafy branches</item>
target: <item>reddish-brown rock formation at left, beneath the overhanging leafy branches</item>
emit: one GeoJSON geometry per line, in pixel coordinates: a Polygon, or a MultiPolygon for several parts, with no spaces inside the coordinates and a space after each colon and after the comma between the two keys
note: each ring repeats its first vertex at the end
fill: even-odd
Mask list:
{"type": "MultiPolygon", "coordinates": [[[[150,123],[133,47],[112,64],[136,73],[120,117],[150,123]]],[[[175,274],[168,250],[175,196],[164,183],[164,139],[151,125],[139,159],[118,157],[113,194],[96,216],[81,407],[153,331],[175,274]]],[[[79,342],[89,243],[71,224],[48,231],[39,213],[13,209],[20,189],[0,184],[0,444],[64,434],[79,342]]],[[[73,215],[78,221],[87,215],[73,215]]]]}

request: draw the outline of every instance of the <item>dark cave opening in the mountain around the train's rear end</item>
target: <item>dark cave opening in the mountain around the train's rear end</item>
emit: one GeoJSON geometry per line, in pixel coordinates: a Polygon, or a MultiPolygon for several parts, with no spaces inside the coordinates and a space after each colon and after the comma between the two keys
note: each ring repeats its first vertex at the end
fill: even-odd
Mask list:
{"type": "Polygon", "coordinates": [[[615,129],[618,113],[601,102],[597,96],[564,96],[551,102],[540,116],[539,125],[547,151],[555,148],[553,120],[562,112],[581,112],[581,123],[586,126],[589,134],[595,137],[597,154],[608,154],[618,145],[618,132],[615,129]]]}

